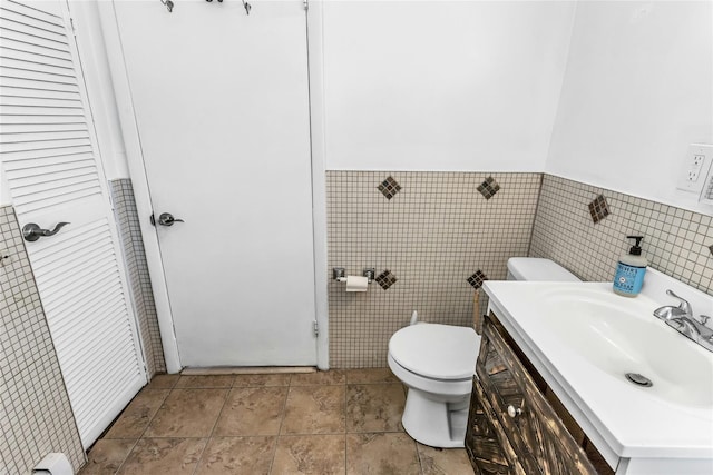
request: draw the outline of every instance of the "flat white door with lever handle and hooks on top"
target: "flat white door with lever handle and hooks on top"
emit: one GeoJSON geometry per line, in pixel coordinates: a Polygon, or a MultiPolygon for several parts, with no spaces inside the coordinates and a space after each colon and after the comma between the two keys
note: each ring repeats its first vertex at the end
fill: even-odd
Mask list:
{"type": "Polygon", "coordinates": [[[174,3],[115,11],[180,363],[314,365],[303,3],[174,3]]]}

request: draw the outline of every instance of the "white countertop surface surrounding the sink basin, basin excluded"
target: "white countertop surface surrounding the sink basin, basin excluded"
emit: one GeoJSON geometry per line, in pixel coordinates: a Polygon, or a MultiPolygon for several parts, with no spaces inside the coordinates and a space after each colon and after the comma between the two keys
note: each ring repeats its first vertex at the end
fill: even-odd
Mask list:
{"type": "MultiPolygon", "coordinates": [[[[656,280],[658,277],[651,279],[656,280]]],[[[667,284],[649,284],[649,294],[658,294],[667,284]]],[[[651,390],[658,389],[657,384],[664,388],[664,382],[654,380],[652,388],[625,382],[624,373],[638,369],[622,368],[621,375],[603,370],[582,356],[582,349],[563,344],[561,335],[557,337],[551,327],[543,325],[547,313],[554,311],[551,299],[544,296],[584,289],[589,295],[600,295],[602,300],[616,305],[621,301],[627,311],[667,328],[652,315],[655,308],[673,303],[665,294],[656,300],[644,294],[631,299],[616,296],[611,288],[611,283],[486,281],[484,285],[490,297],[490,308],[609,463],[611,452],[626,458],[713,458],[713,375],[700,375],[703,384],[709,387],[695,392],[697,396],[680,393],[672,400],[651,390]],[[609,294],[613,298],[608,297],[609,294]],[[600,446],[603,442],[608,449],[600,446]]],[[[681,288],[676,290],[680,295],[692,295],[682,293],[681,288]]],[[[707,313],[704,307],[713,300],[706,298],[712,297],[697,290],[694,293],[697,294],[691,298],[699,304],[697,309],[694,306],[695,315],[707,313]]],[[[576,318],[576,315],[572,317],[576,318]]],[[[647,320],[645,325],[648,325],[647,320]]],[[[692,352],[690,354],[696,360],[703,362],[695,369],[713,368],[713,353],[678,335],[673,328],[668,329],[672,345],[671,348],[662,345],[663,357],[666,356],[665,352],[690,344],[692,348],[684,349],[692,352]],[[710,366],[705,358],[711,362],[710,366]]],[[[597,337],[600,336],[592,335],[592,338],[597,337]]],[[[582,340],[577,345],[583,345],[582,340]]],[[[696,378],[695,373],[692,378],[696,378]]],[[[670,385],[668,390],[675,392],[676,388],[670,385]]]]}

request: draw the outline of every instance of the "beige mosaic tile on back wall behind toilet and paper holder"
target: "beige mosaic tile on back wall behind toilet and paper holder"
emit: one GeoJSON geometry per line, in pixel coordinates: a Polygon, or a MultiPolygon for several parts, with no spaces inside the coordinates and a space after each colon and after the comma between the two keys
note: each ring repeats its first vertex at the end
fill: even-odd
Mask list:
{"type": "Polygon", "coordinates": [[[527,256],[540,180],[328,171],[330,365],[385,366],[389,338],[413,310],[424,321],[470,325],[473,288],[484,277],[504,279],[510,256],[527,256]],[[348,275],[374,267],[380,278],[367,293],[346,293],[331,280],[333,267],[348,275]]]}

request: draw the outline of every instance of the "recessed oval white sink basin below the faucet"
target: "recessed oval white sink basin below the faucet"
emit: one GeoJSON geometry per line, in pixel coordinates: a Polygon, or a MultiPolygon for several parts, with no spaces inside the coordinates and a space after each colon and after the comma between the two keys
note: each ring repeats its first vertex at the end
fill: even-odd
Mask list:
{"type": "Polygon", "coordinates": [[[604,288],[546,291],[541,298],[550,311],[540,323],[560,345],[623,385],[634,385],[627,373],[645,376],[653,383],[639,387],[646,395],[713,409],[713,358],[654,318],[656,304],[623,300],[604,288]]]}

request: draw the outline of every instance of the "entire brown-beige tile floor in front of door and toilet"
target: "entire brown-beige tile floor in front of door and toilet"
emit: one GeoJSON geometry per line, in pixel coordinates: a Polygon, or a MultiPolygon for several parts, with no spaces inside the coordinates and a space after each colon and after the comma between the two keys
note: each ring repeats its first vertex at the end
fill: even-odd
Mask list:
{"type": "Polygon", "coordinates": [[[91,447],[91,474],[472,475],[401,427],[389,369],[156,376],[91,447]]]}

